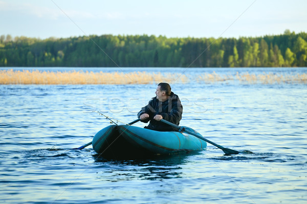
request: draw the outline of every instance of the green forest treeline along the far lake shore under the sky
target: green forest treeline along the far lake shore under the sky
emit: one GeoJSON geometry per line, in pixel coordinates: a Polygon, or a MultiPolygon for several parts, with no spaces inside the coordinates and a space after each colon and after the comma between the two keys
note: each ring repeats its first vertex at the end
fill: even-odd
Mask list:
{"type": "Polygon", "coordinates": [[[307,34],[239,38],[2,35],[1,67],[306,67],[307,34]]]}

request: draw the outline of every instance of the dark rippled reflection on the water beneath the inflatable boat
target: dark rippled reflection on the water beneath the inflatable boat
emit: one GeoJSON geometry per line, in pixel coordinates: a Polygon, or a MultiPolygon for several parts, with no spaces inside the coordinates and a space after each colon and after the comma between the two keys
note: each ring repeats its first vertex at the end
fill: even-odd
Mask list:
{"type": "Polygon", "coordinates": [[[190,152],[189,154],[156,155],[149,159],[113,160],[105,159],[94,155],[97,163],[103,163],[114,168],[103,169],[103,181],[119,182],[125,180],[164,180],[175,179],[182,176],[182,165],[184,165],[193,155],[202,154],[200,152],[190,152]],[[118,168],[120,167],[120,168],[118,168]],[[123,167],[123,168],[121,168],[123,167]],[[105,176],[107,174],[108,176],[105,176]]]}

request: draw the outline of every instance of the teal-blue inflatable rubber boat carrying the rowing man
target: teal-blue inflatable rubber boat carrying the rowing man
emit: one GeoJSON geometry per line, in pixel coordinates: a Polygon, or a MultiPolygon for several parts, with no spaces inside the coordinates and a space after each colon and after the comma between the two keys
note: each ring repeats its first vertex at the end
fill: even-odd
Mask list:
{"type": "MultiPolygon", "coordinates": [[[[189,127],[185,129],[200,135],[189,127]]],[[[94,150],[101,156],[111,157],[167,155],[206,147],[205,141],[187,133],[159,132],[131,125],[109,125],[93,138],[94,150]]]]}

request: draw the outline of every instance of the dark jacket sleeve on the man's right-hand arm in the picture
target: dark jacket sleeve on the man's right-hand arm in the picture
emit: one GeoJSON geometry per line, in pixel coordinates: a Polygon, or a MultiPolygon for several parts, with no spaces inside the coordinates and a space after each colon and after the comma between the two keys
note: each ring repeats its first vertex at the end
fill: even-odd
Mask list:
{"type": "Polygon", "coordinates": [[[177,100],[173,100],[171,103],[171,111],[169,113],[162,113],[163,119],[179,125],[179,122],[182,118],[182,110],[183,107],[181,105],[181,101],[179,98],[177,100]]]}

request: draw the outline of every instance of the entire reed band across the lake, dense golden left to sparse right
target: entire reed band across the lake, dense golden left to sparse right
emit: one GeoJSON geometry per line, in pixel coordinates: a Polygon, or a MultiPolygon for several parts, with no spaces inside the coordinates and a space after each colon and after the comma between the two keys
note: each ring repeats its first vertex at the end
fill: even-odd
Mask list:
{"type": "Polygon", "coordinates": [[[240,82],[249,84],[307,84],[307,73],[236,73],[201,75],[160,72],[89,72],[89,71],[38,71],[0,70],[0,84],[42,84],[42,85],[83,85],[83,84],[153,84],[168,83],[220,83],[240,82]]]}

